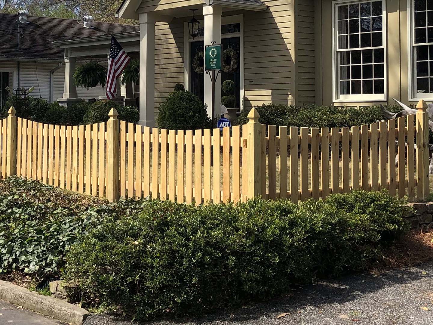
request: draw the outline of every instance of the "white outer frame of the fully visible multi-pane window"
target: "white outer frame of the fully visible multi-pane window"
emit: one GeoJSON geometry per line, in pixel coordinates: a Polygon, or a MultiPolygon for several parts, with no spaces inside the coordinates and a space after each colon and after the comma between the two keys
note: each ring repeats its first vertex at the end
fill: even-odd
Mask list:
{"type": "MultiPolygon", "coordinates": [[[[409,0],[410,1],[410,0],[409,0]]],[[[368,101],[387,101],[388,93],[388,53],[387,53],[387,23],[386,23],[386,1],[382,0],[382,47],[383,47],[383,94],[350,94],[341,95],[340,94],[340,82],[339,82],[339,67],[337,67],[337,26],[338,21],[338,10],[337,6],[341,4],[351,4],[351,3],[362,3],[367,1],[356,0],[337,0],[332,2],[332,76],[333,76],[333,101],[334,102],[368,102],[368,101]]],[[[347,51],[361,51],[368,49],[378,49],[378,47],[366,47],[366,48],[355,48],[347,49],[347,51]]]]}

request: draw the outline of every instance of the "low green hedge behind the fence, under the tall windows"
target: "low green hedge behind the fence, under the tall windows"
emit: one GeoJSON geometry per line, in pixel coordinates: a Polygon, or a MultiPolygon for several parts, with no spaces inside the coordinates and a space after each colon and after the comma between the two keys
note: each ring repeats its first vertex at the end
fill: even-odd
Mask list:
{"type": "MultiPolygon", "coordinates": [[[[398,106],[387,105],[386,108],[393,112],[401,110],[398,106]]],[[[357,108],[263,104],[255,109],[259,112],[260,123],[288,127],[350,127],[384,119],[380,105],[357,108]]],[[[248,111],[244,110],[238,117],[238,123],[247,123],[247,115],[248,111]]]]}

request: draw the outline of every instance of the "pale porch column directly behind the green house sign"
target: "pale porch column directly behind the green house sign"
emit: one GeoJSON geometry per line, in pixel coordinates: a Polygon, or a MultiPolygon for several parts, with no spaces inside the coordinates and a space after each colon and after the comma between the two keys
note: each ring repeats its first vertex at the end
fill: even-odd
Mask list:
{"type": "MultiPolygon", "coordinates": [[[[221,44],[221,7],[203,6],[204,15],[204,45],[221,44]]],[[[207,104],[207,114],[212,115],[212,82],[204,71],[204,104],[207,104]]],[[[215,116],[220,116],[221,107],[221,75],[215,82],[215,116]]]]}

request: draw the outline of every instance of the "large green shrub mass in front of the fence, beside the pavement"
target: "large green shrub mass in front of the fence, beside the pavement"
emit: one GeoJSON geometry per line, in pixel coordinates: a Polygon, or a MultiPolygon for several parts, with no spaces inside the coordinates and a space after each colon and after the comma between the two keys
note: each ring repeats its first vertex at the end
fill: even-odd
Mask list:
{"type": "Polygon", "coordinates": [[[365,269],[404,233],[407,209],[386,192],[362,191],[299,204],[151,200],[140,215],[82,236],[64,278],[84,303],[136,319],[200,313],[365,269]]]}

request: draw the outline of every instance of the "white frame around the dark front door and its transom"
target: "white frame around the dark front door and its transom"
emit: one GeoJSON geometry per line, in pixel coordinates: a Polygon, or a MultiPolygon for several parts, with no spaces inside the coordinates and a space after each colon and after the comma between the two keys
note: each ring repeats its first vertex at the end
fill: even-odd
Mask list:
{"type": "MultiPolygon", "coordinates": [[[[239,33],[221,34],[221,39],[230,37],[239,37],[239,65],[240,65],[240,111],[244,107],[244,23],[243,14],[234,16],[221,17],[221,26],[239,23],[239,33]]],[[[200,20],[200,26],[204,26],[204,20],[200,20]]],[[[189,75],[190,75],[190,42],[204,41],[204,37],[196,37],[192,39],[189,34],[188,23],[184,22],[184,88],[189,90],[189,75]]],[[[205,76],[206,77],[206,76],[205,76]]]]}

